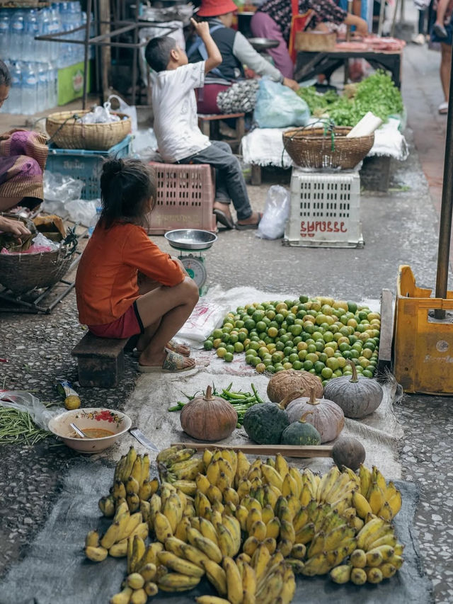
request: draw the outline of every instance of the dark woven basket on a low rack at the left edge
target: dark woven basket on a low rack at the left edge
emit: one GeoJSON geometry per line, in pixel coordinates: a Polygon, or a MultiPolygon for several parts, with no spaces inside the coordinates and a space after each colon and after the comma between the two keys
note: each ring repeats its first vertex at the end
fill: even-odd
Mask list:
{"type": "Polygon", "coordinates": [[[41,253],[0,253],[0,283],[15,294],[55,285],[69,270],[76,246],[41,253]]]}

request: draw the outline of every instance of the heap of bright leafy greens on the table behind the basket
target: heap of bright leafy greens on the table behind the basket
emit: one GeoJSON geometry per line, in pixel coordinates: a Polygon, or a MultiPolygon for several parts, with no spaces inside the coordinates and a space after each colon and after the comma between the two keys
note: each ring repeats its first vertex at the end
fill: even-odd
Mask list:
{"type": "Polygon", "coordinates": [[[314,86],[301,88],[297,92],[309,106],[311,113],[328,115],[337,126],[355,126],[365,113],[372,111],[384,122],[389,115],[401,113],[403,100],[389,74],[379,69],[377,72],[355,85],[348,91],[352,96],[335,97],[329,91],[319,94],[314,86]]]}

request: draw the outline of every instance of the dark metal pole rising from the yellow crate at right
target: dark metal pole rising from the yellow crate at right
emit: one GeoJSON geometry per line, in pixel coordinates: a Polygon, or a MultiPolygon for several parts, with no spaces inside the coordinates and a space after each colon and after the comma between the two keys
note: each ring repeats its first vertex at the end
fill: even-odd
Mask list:
{"type": "MultiPolygon", "coordinates": [[[[453,47],[452,47],[453,51],[453,47]]],[[[452,62],[453,65],[453,62],[452,62]]],[[[450,240],[453,212],[453,75],[450,72],[447,135],[445,137],[444,180],[440,207],[439,249],[437,251],[436,297],[447,297],[450,240]]],[[[436,319],[445,319],[445,310],[434,311],[436,319]]]]}

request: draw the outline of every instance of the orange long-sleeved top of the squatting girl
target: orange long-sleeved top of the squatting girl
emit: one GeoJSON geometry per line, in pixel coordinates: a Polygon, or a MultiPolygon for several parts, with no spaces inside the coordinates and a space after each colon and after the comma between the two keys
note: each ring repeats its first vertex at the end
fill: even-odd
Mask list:
{"type": "Polygon", "coordinates": [[[79,321],[105,325],[115,321],[139,297],[138,270],[162,285],[178,285],[184,273],[136,224],[98,224],[82,253],[76,275],[79,321]]]}

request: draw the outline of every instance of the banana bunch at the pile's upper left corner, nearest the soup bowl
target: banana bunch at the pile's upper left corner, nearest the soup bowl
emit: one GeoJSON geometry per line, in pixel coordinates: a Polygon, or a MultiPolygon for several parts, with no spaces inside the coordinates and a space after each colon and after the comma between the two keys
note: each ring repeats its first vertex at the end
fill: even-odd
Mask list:
{"type": "Polygon", "coordinates": [[[101,497],[98,505],[107,518],[115,515],[122,501],[126,501],[129,511],[134,513],[139,510],[141,502],[149,501],[158,489],[158,479],[149,480],[149,455],[137,455],[131,447],[127,455],[122,455],[117,462],[110,494],[101,497]]]}

